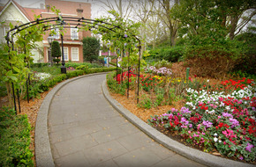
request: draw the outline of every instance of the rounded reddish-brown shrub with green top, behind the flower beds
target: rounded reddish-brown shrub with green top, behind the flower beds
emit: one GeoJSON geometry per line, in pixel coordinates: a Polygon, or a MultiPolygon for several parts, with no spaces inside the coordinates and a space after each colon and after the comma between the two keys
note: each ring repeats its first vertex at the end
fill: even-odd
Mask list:
{"type": "Polygon", "coordinates": [[[225,76],[239,61],[237,53],[213,46],[191,47],[185,56],[193,74],[213,78],[225,76]]]}

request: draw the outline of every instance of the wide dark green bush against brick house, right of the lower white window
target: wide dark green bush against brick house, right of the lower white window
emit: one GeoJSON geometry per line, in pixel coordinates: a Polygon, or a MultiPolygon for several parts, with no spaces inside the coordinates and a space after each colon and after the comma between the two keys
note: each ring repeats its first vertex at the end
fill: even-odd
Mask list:
{"type": "Polygon", "coordinates": [[[87,37],[83,39],[83,56],[84,61],[93,62],[98,60],[100,50],[100,40],[95,37],[87,37]]]}

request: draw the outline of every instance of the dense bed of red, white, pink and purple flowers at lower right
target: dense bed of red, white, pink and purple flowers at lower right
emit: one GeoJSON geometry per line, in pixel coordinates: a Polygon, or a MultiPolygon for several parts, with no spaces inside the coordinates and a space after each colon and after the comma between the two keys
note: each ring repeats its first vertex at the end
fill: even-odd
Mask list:
{"type": "Polygon", "coordinates": [[[238,86],[241,89],[231,94],[189,88],[186,90],[188,101],[181,110],[171,109],[155,115],[148,120],[149,124],[169,132],[177,131],[186,142],[206,152],[216,149],[223,156],[254,161],[256,88],[253,80],[243,82],[245,85],[238,86]]]}

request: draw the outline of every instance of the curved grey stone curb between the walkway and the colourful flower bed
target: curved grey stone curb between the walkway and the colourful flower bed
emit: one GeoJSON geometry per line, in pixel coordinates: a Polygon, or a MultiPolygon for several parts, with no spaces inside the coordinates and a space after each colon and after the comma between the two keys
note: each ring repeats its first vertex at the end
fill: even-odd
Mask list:
{"type": "Polygon", "coordinates": [[[149,137],[154,139],[155,142],[159,142],[166,148],[177,152],[177,154],[179,155],[185,156],[191,159],[192,161],[202,163],[207,166],[255,167],[255,165],[252,165],[249,163],[241,163],[241,162],[233,161],[230,159],[222,158],[219,156],[213,156],[211,154],[207,154],[198,149],[192,149],[180,142],[172,140],[165,134],[162,134],[158,130],[154,129],[154,127],[149,126],[143,120],[140,120],[137,116],[135,116],[130,111],[125,109],[123,105],[120,105],[116,99],[113,99],[109,94],[106,80],[102,84],[102,91],[103,91],[104,97],[109,101],[110,105],[112,105],[117,110],[117,112],[121,113],[124,116],[124,118],[132,122],[132,124],[135,125],[136,127],[139,127],[141,131],[143,131],[149,137]]]}

